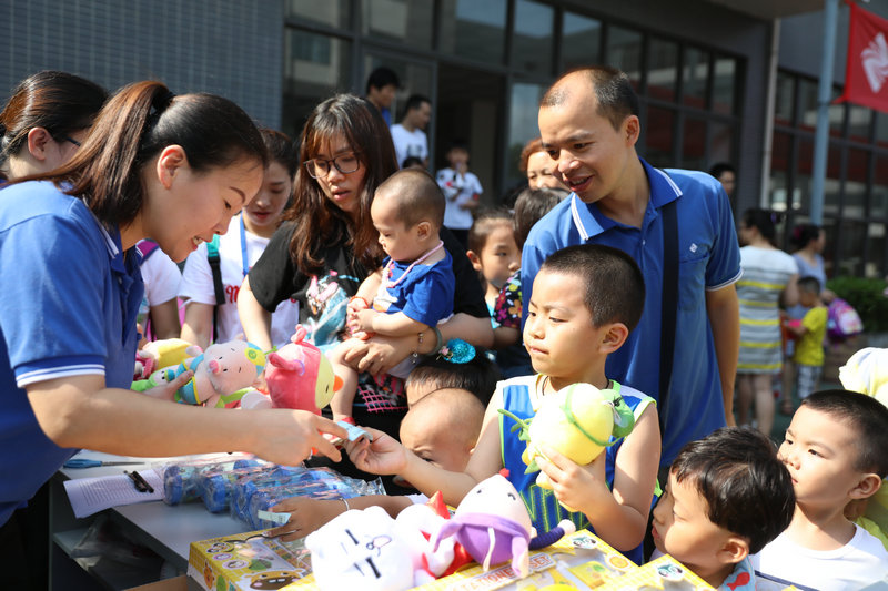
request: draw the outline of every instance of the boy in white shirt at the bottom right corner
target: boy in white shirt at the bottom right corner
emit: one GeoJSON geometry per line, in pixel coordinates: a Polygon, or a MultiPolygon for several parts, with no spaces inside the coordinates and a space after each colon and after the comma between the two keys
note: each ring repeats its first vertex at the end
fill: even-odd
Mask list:
{"type": "Polygon", "coordinates": [[[888,408],[878,400],[824,390],[801,401],[778,452],[796,510],[786,531],[751,557],[758,591],[862,589],[888,578],[888,551],[844,514],[888,476],[886,450],[888,408]]]}

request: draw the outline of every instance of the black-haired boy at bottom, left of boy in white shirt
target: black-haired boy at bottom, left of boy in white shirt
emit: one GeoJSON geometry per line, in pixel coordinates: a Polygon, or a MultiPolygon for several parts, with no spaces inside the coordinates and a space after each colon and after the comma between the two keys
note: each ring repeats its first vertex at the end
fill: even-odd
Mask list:
{"type": "Polygon", "coordinates": [[[770,439],[724,427],[676,456],[654,508],[654,544],[716,589],[751,591],[748,557],[786,529],[795,500],[770,439]]]}

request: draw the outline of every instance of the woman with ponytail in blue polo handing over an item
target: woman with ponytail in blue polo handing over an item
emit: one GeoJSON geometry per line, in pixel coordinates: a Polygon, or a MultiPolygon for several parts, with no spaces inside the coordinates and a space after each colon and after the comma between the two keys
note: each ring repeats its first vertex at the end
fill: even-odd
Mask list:
{"type": "MultiPolygon", "coordinates": [[[[259,191],[265,146],[250,118],[160,82],[122,89],[62,167],[0,198],[0,524],[75,448],[131,456],[243,450],[296,465],[339,458],[332,421],[297,410],[233,412],[129,389],[142,279],[135,243],[183,261],[259,191]]],[[[185,371],[167,386],[190,379],[185,371]]]]}

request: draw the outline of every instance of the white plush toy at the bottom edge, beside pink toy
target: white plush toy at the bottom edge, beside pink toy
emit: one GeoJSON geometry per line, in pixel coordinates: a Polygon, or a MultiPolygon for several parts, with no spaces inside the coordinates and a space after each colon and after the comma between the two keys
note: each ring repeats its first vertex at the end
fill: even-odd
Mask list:
{"type": "Polygon", "coordinates": [[[351,510],[305,538],[322,590],[401,591],[413,587],[416,550],[395,534],[382,507],[351,510]]]}

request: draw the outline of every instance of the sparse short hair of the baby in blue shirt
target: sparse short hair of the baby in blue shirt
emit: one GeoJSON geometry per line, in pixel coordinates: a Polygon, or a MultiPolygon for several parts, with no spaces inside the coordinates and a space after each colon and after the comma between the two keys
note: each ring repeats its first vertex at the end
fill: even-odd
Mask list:
{"type": "Polygon", "coordinates": [[[398,218],[405,227],[413,227],[423,220],[432,222],[436,231],[444,224],[447,201],[428,172],[400,170],[376,187],[376,193],[381,191],[391,192],[397,200],[398,218]]]}

